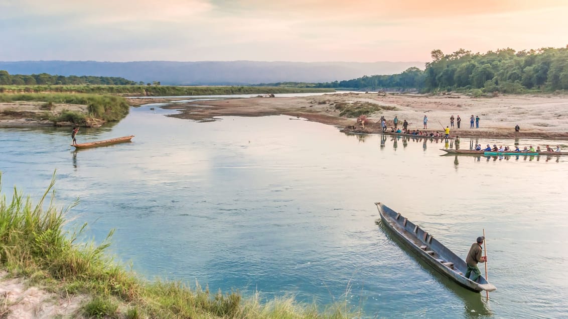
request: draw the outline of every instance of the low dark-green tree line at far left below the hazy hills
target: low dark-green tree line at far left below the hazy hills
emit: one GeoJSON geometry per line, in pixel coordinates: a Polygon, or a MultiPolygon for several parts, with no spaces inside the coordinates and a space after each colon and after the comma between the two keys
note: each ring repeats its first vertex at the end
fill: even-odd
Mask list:
{"type": "Polygon", "coordinates": [[[7,71],[0,70],[0,85],[16,85],[16,86],[33,86],[33,85],[84,85],[84,84],[97,84],[97,85],[137,85],[144,84],[138,83],[124,78],[116,78],[112,76],[63,76],[51,75],[47,73],[23,75],[12,74],[7,71]]]}

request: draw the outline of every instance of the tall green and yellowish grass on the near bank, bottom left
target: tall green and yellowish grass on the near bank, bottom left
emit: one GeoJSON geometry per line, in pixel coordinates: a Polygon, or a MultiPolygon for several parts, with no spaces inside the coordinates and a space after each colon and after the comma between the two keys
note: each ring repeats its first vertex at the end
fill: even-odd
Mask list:
{"type": "MultiPolygon", "coordinates": [[[[198,284],[191,288],[181,282],[141,279],[106,256],[113,231],[100,245],[76,242],[86,224],[74,232],[65,230],[65,213],[77,202],[65,209],[54,207],[54,185],[55,174],[36,205],[16,189],[11,202],[5,195],[0,199],[0,270],[61,296],[89,296],[76,314],[79,317],[340,319],[361,315],[346,302],[324,309],[296,303],[293,297],[262,303],[258,294],[245,299],[235,291],[212,293],[198,284]],[[48,196],[51,201],[45,204],[48,196]]],[[[0,305],[0,317],[9,314],[8,306],[0,305]]]]}

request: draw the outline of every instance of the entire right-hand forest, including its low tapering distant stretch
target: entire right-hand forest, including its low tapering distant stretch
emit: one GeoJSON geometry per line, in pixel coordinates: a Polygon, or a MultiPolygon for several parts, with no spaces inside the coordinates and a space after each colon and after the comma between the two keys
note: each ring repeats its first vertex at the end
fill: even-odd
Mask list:
{"type": "Polygon", "coordinates": [[[452,54],[432,51],[432,62],[421,71],[411,67],[403,73],[372,75],[314,87],[419,91],[478,91],[523,93],[568,89],[568,46],[538,50],[500,49],[485,54],[459,49],[452,54]]]}

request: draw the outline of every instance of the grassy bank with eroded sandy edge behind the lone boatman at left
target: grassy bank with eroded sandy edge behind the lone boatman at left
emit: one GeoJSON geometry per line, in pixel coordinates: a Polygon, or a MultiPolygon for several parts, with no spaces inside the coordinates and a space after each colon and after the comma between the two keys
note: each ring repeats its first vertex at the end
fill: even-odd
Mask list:
{"type": "Polygon", "coordinates": [[[2,93],[0,119],[35,120],[44,125],[101,126],[128,114],[126,98],[84,93],[2,93]]]}

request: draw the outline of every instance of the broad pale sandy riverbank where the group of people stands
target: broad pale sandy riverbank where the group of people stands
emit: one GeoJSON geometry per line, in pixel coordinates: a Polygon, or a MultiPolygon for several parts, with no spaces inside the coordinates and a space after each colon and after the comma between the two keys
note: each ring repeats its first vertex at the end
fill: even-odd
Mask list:
{"type": "Polygon", "coordinates": [[[335,125],[353,133],[380,133],[376,122],[381,116],[392,127],[396,116],[406,120],[410,130],[423,130],[423,118],[428,117],[427,131],[441,132],[450,126],[450,117],[462,119],[450,127],[450,135],[485,138],[548,138],[568,139],[568,96],[506,95],[492,98],[466,95],[419,95],[385,93],[330,93],[319,96],[275,97],[199,101],[167,105],[179,110],[174,117],[196,121],[211,121],[222,116],[268,116],[285,114],[310,121],[335,125]],[[352,110],[352,113],[345,112],[352,110]],[[370,109],[371,124],[356,125],[358,110],[370,109]],[[342,114],[344,113],[344,114],[342,114]],[[353,114],[346,116],[345,113],[353,114]],[[471,115],[479,116],[479,128],[470,129],[471,115]],[[515,125],[520,131],[515,132],[515,125]]]}

